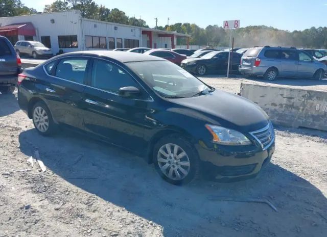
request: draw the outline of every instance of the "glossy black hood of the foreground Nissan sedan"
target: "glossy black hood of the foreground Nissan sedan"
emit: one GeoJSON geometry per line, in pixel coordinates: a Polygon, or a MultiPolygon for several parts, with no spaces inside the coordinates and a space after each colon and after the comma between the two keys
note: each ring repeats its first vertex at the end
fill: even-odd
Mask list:
{"type": "Polygon", "coordinates": [[[263,128],[269,120],[255,103],[221,90],[197,97],[171,99],[171,102],[184,107],[182,113],[188,116],[242,132],[263,128]]]}

